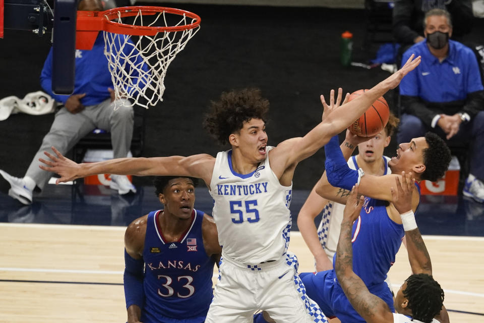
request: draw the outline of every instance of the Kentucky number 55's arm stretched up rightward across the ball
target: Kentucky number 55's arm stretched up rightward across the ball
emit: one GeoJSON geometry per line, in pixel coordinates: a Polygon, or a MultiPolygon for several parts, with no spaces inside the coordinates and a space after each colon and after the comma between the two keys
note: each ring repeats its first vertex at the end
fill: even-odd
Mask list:
{"type": "MultiPolygon", "coordinates": [[[[411,56],[400,70],[384,81],[378,83],[364,94],[344,104],[344,109],[335,109],[334,112],[325,117],[319,125],[313,128],[304,137],[296,138],[297,140],[291,140],[290,144],[278,145],[273,151],[271,151],[270,155],[271,160],[277,159],[277,163],[271,161],[271,164],[277,168],[274,170],[275,173],[282,174],[292,165],[313,155],[318,149],[324,146],[331,137],[346,129],[352,122],[367,111],[368,107],[377,98],[385,94],[388,90],[395,88],[400,83],[401,79],[419,63],[420,57],[413,59],[413,56],[411,56]]],[[[330,109],[335,105],[336,107],[339,106],[341,98],[341,89],[338,90],[336,102],[334,102],[334,92],[331,92],[329,103],[330,109]]],[[[321,96],[321,100],[323,106],[326,108],[327,104],[325,103],[323,96],[321,96]]],[[[273,167],[272,165],[271,167],[273,167]]]]}

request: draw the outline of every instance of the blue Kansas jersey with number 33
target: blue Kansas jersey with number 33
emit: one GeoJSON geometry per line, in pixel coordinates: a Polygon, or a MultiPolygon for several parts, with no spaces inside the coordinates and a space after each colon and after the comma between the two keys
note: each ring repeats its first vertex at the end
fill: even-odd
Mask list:
{"type": "Polygon", "coordinates": [[[148,214],[143,250],[146,299],[141,321],[203,322],[213,297],[214,265],[203,245],[204,213],[194,209],[188,231],[179,241],[168,243],[159,227],[160,213],[148,214]]]}

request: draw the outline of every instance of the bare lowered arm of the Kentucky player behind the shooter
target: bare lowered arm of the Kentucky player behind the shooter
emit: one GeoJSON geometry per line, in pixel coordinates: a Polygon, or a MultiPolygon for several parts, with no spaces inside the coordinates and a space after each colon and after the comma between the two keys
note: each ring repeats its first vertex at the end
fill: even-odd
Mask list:
{"type": "Polygon", "coordinates": [[[333,268],[333,264],[328,259],[326,252],[321,245],[318,237],[318,230],[314,224],[314,219],[323,208],[328,204],[328,200],[319,196],[315,188],[311,190],[299,214],[297,214],[297,227],[316,260],[316,271],[322,272],[333,268]]]}

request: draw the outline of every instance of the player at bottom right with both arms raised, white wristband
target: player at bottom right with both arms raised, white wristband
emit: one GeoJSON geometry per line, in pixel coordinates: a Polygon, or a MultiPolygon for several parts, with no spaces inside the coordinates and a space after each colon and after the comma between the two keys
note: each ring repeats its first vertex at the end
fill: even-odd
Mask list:
{"type": "Polygon", "coordinates": [[[412,212],[412,174],[402,172],[402,181],[396,177],[392,187],[392,203],[400,213],[407,239],[408,260],[413,274],[408,277],[395,296],[396,313],[353,272],[352,227],[358,218],[364,197],[357,197],[358,185],[351,190],[343,212],[341,234],[336,249],[335,272],[341,288],[353,308],[368,323],[447,323],[444,291],[432,277],[432,263],[412,212]]]}

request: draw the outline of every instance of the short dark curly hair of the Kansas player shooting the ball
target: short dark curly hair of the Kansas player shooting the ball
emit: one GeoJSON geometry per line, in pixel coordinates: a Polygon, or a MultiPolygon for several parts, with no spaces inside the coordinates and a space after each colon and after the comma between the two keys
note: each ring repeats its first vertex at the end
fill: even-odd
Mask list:
{"type": "Polygon", "coordinates": [[[445,175],[452,156],[445,141],[435,133],[427,132],[425,140],[429,147],[423,149],[425,171],[421,174],[420,179],[435,182],[445,175]]]}

